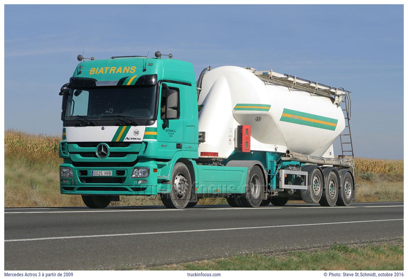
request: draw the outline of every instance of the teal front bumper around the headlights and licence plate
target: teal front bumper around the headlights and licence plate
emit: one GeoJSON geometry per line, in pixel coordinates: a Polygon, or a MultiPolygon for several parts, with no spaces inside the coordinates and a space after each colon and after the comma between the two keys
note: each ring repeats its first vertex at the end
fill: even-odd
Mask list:
{"type": "Polygon", "coordinates": [[[73,178],[60,176],[60,192],[73,195],[126,195],[149,196],[159,193],[170,193],[170,184],[167,180],[157,179],[157,164],[154,161],[137,163],[133,167],[75,167],[70,163],[63,163],[60,167],[70,167],[73,178]],[[131,178],[135,167],[148,167],[147,178],[131,178]],[[91,171],[111,170],[112,176],[91,176],[91,171]],[[62,180],[68,180],[67,183],[62,180]],[[146,180],[146,183],[138,183],[146,180]],[[163,183],[164,182],[164,183],[163,183]]]}

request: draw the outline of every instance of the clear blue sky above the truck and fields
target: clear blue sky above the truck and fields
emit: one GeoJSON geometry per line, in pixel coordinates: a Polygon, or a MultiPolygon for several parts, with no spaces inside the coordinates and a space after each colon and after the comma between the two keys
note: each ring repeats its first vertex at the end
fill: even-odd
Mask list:
{"type": "MultiPolygon", "coordinates": [[[[273,69],[352,91],[355,155],[403,158],[402,5],[5,5],[5,128],[60,134],[76,56],[273,69]]],[[[335,154],[339,154],[335,146],[335,154]]]]}

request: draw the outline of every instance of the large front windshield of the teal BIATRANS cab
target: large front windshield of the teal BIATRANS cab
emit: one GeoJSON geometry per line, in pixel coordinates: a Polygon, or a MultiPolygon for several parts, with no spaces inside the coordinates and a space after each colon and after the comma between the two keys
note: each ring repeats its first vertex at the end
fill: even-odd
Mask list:
{"type": "Polygon", "coordinates": [[[127,119],[153,119],[156,100],[155,86],[132,88],[71,88],[64,120],[108,120],[124,116],[127,119]],[[85,117],[84,117],[85,116],[85,117]]]}

